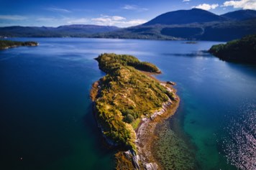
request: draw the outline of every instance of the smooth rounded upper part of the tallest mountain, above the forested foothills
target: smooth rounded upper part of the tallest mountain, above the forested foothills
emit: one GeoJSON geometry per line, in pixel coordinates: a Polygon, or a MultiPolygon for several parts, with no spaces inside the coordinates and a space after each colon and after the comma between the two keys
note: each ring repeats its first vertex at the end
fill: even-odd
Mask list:
{"type": "Polygon", "coordinates": [[[213,14],[209,11],[203,9],[190,9],[190,10],[178,10],[170,11],[160,16],[155,17],[155,19],[150,20],[143,25],[154,25],[154,24],[191,24],[191,23],[201,23],[201,22],[223,22],[228,19],[213,14]]]}

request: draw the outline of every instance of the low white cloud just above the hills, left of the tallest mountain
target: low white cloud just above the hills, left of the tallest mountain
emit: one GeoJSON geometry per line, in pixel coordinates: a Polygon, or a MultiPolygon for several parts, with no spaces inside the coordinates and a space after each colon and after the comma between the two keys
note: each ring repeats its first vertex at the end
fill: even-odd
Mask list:
{"type": "Polygon", "coordinates": [[[91,19],[93,24],[98,25],[109,25],[109,26],[118,26],[118,27],[131,27],[138,24],[143,24],[147,22],[144,19],[130,19],[127,20],[126,18],[122,16],[107,16],[107,15],[101,15],[99,18],[93,18],[91,19]]]}

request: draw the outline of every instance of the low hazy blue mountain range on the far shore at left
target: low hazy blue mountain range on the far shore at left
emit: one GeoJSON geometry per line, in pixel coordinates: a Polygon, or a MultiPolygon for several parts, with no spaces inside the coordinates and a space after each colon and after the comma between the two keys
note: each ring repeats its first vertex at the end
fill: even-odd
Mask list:
{"type": "Polygon", "coordinates": [[[111,32],[118,27],[73,24],[60,27],[0,27],[0,37],[88,37],[89,34],[111,32]]]}

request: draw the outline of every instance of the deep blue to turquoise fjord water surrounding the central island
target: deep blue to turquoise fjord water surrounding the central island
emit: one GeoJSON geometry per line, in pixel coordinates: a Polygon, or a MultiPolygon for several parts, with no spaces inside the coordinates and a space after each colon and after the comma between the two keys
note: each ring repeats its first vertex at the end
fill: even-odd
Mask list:
{"type": "Polygon", "coordinates": [[[89,98],[104,75],[93,58],[104,52],[152,62],[158,79],[177,82],[180,107],[157,128],[172,169],[255,167],[256,67],[205,52],[218,42],[14,40],[40,46],[0,52],[0,169],[114,169],[89,98]]]}

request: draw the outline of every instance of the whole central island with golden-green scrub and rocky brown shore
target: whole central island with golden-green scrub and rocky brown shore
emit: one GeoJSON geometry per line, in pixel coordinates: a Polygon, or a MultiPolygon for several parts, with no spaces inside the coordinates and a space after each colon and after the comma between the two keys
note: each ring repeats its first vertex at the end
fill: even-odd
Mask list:
{"type": "Polygon", "coordinates": [[[118,149],[116,169],[160,169],[151,148],[155,126],[170,117],[179,98],[160,70],[131,55],[96,58],[106,75],[93,83],[93,114],[106,143],[118,149]]]}

